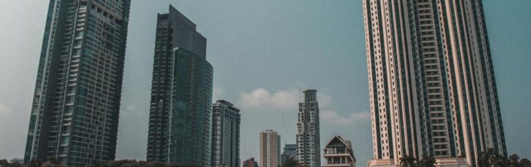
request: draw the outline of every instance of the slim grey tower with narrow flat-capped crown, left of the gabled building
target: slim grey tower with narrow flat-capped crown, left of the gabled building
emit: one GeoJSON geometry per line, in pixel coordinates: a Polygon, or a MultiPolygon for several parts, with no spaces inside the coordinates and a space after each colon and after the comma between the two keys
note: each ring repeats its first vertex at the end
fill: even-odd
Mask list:
{"type": "Polygon", "coordinates": [[[304,166],[321,166],[321,148],[319,146],[319,103],[317,90],[307,89],[304,102],[299,103],[297,121],[297,160],[304,166]]]}

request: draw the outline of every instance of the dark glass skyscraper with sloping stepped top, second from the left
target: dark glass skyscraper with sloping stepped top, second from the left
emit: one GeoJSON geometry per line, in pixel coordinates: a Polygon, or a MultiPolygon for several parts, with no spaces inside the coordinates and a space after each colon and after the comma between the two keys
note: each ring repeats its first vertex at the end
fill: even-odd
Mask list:
{"type": "Polygon", "coordinates": [[[173,6],[157,19],[147,160],[210,166],[213,70],[207,39],[173,6]]]}

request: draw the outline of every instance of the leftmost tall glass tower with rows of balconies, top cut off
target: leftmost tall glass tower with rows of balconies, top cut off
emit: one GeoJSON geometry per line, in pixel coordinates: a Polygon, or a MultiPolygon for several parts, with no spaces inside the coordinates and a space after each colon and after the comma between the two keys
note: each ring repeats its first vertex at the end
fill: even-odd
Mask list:
{"type": "Polygon", "coordinates": [[[129,0],[50,0],[24,161],[113,160],[129,0]]]}

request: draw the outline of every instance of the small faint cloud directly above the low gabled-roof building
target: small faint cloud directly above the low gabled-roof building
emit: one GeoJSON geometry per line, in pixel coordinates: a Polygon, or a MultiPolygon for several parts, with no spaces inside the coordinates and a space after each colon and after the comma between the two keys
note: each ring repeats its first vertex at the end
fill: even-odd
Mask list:
{"type": "Polygon", "coordinates": [[[339,115],[334,110],[324,110],[321,112],[320,118],[323,121],[332,124],[355,124],[359,121],[369,121],[371,114],[368,111],[364,112],[351,112],[348,116],[339,115]]]}

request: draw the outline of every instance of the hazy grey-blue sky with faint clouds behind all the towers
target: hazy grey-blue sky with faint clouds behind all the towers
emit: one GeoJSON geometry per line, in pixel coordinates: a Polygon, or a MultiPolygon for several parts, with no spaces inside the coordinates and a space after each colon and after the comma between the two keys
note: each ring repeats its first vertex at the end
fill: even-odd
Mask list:
{"type": "MultiPolygon", "coordinates": [[[[531,158],[531,1],[483,1],[509,153],[531,158]]],[[[207,38],[214,100],[241,109],[241,159],[259,132],[295,143],[297,102],[318,90],[321,143],[372,158],[362,3],[140,1],[131,4],[117,159],[145,159],[156,14],[172,4],[207,38]]],[[[23,157],[48,1],[0,0],[0,159],[23,157]]]]}

